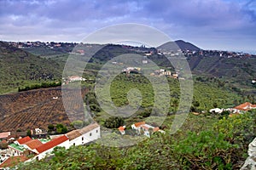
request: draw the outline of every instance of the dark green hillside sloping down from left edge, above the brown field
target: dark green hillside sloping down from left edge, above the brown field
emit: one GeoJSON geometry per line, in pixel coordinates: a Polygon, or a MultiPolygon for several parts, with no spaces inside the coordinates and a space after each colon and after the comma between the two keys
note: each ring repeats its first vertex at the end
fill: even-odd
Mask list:
{"type": "Polygon", "coordinates": [[[63,65],[15,48],[7,42],[0,42],[0,60],[0,94],[32,82],[61,79],[63,65]]]}

